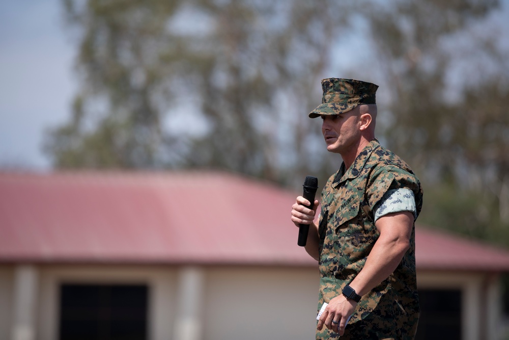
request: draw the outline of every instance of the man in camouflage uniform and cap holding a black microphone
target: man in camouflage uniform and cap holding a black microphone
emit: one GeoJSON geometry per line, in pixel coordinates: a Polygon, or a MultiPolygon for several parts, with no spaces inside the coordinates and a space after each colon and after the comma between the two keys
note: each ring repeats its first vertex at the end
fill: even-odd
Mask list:
{"type": "Polygon", "coordinates": [[[318,200],[310,209],[299,196],[292,206],[295,225],[310,225],[305,249],[319,261],[319,309],[328,303],[317,339],[413,339],[417,329],[414,222],[422,188],[375,138],[377,88],[324,79],[322,104],[309,113],[322,118],[327,150],[343,159],[322,191],[318,224],[318,200]]]}

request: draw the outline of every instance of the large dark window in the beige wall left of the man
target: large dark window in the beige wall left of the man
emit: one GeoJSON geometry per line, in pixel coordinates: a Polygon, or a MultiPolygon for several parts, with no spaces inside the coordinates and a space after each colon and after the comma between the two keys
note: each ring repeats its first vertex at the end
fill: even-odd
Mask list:
{"type": "Polygon", "coordinates": [[[60,340],[145,340],[146,285],[62,284],[60,340]]]}

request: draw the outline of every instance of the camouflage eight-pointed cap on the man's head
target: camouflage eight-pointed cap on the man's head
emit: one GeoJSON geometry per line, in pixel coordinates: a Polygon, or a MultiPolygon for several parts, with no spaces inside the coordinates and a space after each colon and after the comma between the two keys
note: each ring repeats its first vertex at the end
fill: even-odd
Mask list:
{"type": "Polygon", "coordinates": [[[309,118],[338,115],[358,104],[376,104],[378,85],[353,79],[328,78],[322,80],[322,104],[309,113],[309,118]]]}

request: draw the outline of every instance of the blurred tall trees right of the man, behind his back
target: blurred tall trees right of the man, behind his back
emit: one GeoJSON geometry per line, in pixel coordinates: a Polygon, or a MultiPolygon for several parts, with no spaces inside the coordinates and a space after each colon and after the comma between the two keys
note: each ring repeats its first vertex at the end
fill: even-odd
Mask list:
{"type": "Polygon", "coordinates": [[[509,246],[509,62],[476,25],[500,4],[392,5],[364,15],[392,98],[382,135],[430,189],[423,220],[509,246]]]}

